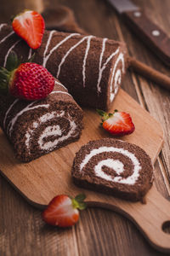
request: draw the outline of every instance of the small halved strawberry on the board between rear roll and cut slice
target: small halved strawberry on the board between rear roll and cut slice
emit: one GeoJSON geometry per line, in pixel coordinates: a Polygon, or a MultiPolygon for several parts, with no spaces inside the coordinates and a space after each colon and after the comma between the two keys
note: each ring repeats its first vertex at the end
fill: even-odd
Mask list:
{"type": "Polygon", "coordinates": [[[102,116],[101,125],[112,135],[123,136],[134,131],[133,121],[129,113],[118,112],[117,110],[114,113],[105,113],[99,109],[97,112],[102,116]]]}

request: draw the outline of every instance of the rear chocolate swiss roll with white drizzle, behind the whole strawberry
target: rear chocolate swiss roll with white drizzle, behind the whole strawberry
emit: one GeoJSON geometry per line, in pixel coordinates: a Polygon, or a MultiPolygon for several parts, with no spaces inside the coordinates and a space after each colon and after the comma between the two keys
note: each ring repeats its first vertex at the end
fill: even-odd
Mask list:
{"type": "Polygon", "coordinates": [[[42,45],[33,51],[11,26],[2,24],[0,66],[5,66],[12,49],[25,60],[35,52],[34,61],[65,84],[80,105],[103,110],[110,108],[127,68],[123,43],[92,35],[46,31],[42,45]]]}

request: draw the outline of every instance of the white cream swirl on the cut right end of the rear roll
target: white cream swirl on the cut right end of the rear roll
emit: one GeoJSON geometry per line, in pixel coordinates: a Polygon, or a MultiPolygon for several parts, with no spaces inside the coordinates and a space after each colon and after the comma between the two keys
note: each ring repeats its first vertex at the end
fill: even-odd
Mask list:
{"type": "Polygon", "coordinates": [[[121,69],[116,70],[116,67],[117,67],[119,61],[122,61],[122,73],[125,73],[124,55],[122,54],[122,52],[118,55],[118,57],[116,59],[116,63],[115,63],[115,66],[113,67],[113,72],[112,72],[112,76],[111,76],[111,86],[110,86],[110,92],[111,92],[110,101],[111,102],[113,101],[114,97],[116,96],[116,93],[118,90],[118,84],[121,84],[121,76],[122,76],[121,69]],[[115,75],[115,72],[116,72],[116,75],[115,75]],[[112,92],[114,75],[115,75],[115,83],[114,83],[115,90],[114,90],[114,92],[112,92]]]}

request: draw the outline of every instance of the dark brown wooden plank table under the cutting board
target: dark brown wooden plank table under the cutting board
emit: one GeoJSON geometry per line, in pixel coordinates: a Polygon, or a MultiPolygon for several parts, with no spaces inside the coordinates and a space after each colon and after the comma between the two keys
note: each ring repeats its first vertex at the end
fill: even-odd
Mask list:
{"type": "MultiPolygon", "coordinates": [[[[111,5],[105,0],[48,0],[53,7],[65,4],[74,10],[84,30],[99,37],[127,43],[129,55],[170,75],[165,67],[138,38],[128,30],[111,5]]],[[[133,0],[143,7],[170,37],[169,0],[133,0]]],[[[42,11],[42,0],[1,0],[0,22],[23,8],[42,11]]],[[[122,88],[146,108],[162,125],[165,143],[155,165],[156,188],[169,200],[170,195],[170,92],[127,72],[122,88]]],[[[142,119],[142,117],[141,117],[142,119]]],[[[170,236],[170,235],[169,235],[170,236]]],[[[41,212],[31,207],[11,185],[0,177],[0,255],[164,255],[145,241],[134,224],[118,213],[101,208],[81,212],[77,225],[61,230],[42,222],[41,212]]]]}

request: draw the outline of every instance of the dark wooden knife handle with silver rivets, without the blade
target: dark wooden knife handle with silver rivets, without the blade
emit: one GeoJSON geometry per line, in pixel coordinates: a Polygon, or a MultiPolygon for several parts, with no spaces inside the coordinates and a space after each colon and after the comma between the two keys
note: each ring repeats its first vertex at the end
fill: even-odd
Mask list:
{"type": "Polygon", "coordinates": [[[161,61],[170,66],[170,38],[141,10],[123,13],[127,25],[154,51],[161,61]]]}

